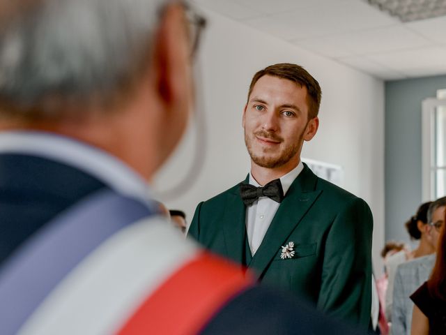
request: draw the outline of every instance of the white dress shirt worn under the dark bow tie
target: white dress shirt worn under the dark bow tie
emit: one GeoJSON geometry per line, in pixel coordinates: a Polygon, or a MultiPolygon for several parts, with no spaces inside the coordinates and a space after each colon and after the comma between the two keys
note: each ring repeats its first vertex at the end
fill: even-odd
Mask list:
{"type": "MultiPolygon", "coordinates": [[[[284,195],[286,195],[286,192],[289,190],[294,179],[298,177],[303,168],[304,165],[300,162],[293,170],[280,177],[284,195]]],[[[261,186],[256,179],[252,177],[251,172],[249,172],[249,184],[256,187],[261,186]]],[[[268,197],[260,197],[252,205],[247,207],[246,230],[252,255],[256,253],[262,243],[263,237],[265,237],[266,231],[270,227],[272,218],[274,218],[279,205],[279,202],[275,202],[268,197]]]]}

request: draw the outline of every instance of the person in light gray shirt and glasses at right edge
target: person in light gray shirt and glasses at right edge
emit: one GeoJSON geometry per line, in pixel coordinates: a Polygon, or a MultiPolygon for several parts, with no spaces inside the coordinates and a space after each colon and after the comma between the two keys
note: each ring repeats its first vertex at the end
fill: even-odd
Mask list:
{"type": "Polygon", "coordinates": [[[446,197],[431,202],[427,211],[427,223],[422,225],[424,240],[429,243],[433,253],[403,262],[397,267],[393,290],[392,325],[393,335],[410,335],[413,302],[410,295],[429,278],[435,262],[438,244],[438,225],[444,224],[446,197]]]}

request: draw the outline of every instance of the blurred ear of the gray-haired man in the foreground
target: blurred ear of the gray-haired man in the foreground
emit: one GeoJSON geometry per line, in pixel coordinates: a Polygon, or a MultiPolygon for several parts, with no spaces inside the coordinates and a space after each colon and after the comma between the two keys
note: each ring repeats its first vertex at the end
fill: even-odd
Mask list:
{"type": "Polygon", "coordinates": [[[176,104],[190,92],[189,54],[183,8],[171,4],[164,10],[153,43],[155,89],[166,105],[176,104]]]}

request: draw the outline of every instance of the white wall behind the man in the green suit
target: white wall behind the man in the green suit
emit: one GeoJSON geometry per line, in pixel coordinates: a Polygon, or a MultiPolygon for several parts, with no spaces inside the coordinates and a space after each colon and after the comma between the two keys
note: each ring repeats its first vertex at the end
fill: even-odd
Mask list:
{"type": "MultiPolygon", "coordinates": [[[[208,149],[199,178],[187,192],[176,198],[160,196],[160,200],[169,208],[185,210],[190,222],[198,202],[243,180],[249,171],[249,156],[241,115],[252,75],[270,64],[300,64],[316,77],[323,91],[321,126],[312,142],[304,144],[302,156],[341,165],[344,188],[369,203],[375,221],[375,267],[380,274],[378,255],[384,239],[383,82],[217,13],[202,11],[208,28],[198,64],[203,74],[199,94],[204,97],[208,149]]],[[[190,130],[155,179],[155,189],[162,191],[178,184],[194,159],[190,130]]]]}

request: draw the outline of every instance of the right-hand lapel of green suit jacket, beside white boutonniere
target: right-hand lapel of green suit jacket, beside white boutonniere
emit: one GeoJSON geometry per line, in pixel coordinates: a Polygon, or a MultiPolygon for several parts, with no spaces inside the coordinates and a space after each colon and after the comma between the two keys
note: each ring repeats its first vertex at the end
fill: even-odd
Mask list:
{"type": "Polygon", "coordinates": [[[249,268],[256,270],[258,278],[261,278],[279,248],[286,244],[286,239],[321,194],[321,191],[314,191],[316,181],[316,175],[305,165],[291,184],[259,249],[249,263],[249,268]]]}

